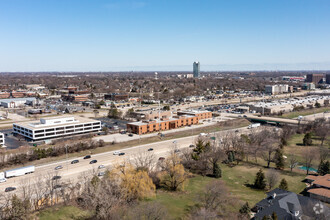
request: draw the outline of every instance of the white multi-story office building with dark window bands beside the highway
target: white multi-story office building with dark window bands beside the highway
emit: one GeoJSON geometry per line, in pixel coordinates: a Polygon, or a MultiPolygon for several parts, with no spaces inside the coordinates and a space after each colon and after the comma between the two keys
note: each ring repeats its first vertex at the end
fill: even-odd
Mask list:
{"type": "Polygon", "coordinates": [[[40,119],[40,121],[13,124],[14,133],[32,141],[86,134],[100,130],[100,121],[76,116],[44,118],[40,119]]]}

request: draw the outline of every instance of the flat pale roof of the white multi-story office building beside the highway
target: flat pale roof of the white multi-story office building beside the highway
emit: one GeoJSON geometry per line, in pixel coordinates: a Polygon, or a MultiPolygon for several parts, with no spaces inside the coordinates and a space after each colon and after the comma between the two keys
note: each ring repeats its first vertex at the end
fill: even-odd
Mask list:
{"type": "Polygon", "coordinates": [[[66,125],[74,125],[80,123],[87,123],[87,122],[99,122],[98,120],[79,117],[79,116],[62,116],[62,117],[49,117],[49,118],[41,118],[37,121],[27,121],[27,122],[19,122],[13,123],[15,125],[36,130],[36,129],[44,129],[44,128],[52,128],[52,127],[59,127],[59,126],[66,126],[66,125]],[[70,122],[67,122],[68,119],[73,119],[70,122]],[[58,123],[54,123],[57,122],[58,123]],[[46,123],[43,123],[46,122],[46,123]]]}

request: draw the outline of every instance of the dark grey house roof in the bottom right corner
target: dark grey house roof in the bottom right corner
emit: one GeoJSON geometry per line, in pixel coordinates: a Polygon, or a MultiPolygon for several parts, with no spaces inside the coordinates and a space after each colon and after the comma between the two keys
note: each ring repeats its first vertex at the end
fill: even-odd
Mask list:
{"type": "MultiPolygon", "coordinates": [[[[302,216],[313,218],[315,204],[321,203],[316,199],[301,196],[282,189],[274,189],[267,193],[267,198],[256,204],[258,212],[255,219],[262,219],[264,216],[271,216],[274,212],[278,219],[291,220],[299,219],[302,216]]],[[[324,205],[326,218],[330,218],[330,210],[324,205]]]]}

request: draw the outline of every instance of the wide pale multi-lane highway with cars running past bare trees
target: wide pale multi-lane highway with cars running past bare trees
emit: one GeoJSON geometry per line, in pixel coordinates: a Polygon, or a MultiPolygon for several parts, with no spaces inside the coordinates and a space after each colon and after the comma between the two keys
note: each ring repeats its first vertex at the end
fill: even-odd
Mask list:
{"type": "MultiPolygon", "coordinates": [[[[227,132],[233,132],[235,130],[239,130],[239,133],[247,133],[249,130],[247,127],[240,128],[240,129],[233,129],[227,131],[220,131],[215,133],[216,135],[224,135],[227,132]]],[[[213,136],[213,135],[210,135],[213,136]]],[[[61,176],[58,182],[71,182],[75,183],[78,182],[80,177],[83,175],[92,176],[93,173],[97,174],[100,171],[98,170],[99,165],[104,165],[106,168],[110,168],[114,164],[121,164],[124,160],[133,160],[136,155],[141,153],[153,153],[155,155],[155,162],[157,162],[159,157],[168,156],[171,149],[177,148],[182,149],[189,147],[189,145],[193,144],[198,136],[189,136],[183,137],[178,139],[160,141],[151,144],[139,145],[135,147],[130,147],[126,149],[120,150],[120,152],[124,152],[124,156],[113,155],[114,151],[104,152],[100,154],[91,155],[90,159],[83,159],[82,157],[79,158],[70,158],[67,160],[62,160],[58,162],[52,162],[44,165],[37,166],[35,172],[32,174],[27,174],[24,176],[13,177],[7,179],[7,182],[0,183],[0,192],[5,193],[6,195],[9,194],[20,194],[22,193],[22,186],[26,186],[29,184],[32,185],[40,185],[45,183],[46,181],[50,180],[53,176],[61,176]],[[175,141],[175,142],[174,142],[175,141]],[[154,150],[148,152],[149,148],[153,148],[154,150]],[[79,163],[71,164],[72,160],[79,160],[79,163]],[[95,164],[89,164],[91,160],[97,160],[95,164]],[[55,170],[56,166],[62,165],[63,168],[60,170],[55,170]],[[16,187],[17,189],[12,192],[4,192],[6,187],[16,187]]]]}

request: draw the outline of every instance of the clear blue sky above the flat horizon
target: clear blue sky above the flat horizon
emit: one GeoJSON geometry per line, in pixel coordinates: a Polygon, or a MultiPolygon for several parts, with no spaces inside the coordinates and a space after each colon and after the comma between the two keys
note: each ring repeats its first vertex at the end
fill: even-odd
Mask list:
{"type": "Polygon", "coordinates": [[[0,0],[0,72],[330,70],[329,0],[0,0]]]}

